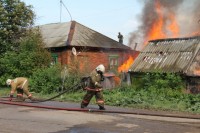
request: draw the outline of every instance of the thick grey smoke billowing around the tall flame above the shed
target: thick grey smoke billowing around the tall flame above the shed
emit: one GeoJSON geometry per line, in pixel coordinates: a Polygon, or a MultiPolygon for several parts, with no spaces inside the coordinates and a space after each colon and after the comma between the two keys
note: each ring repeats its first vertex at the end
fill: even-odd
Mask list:
{"type": "MultiPolygon", "coordinates": [[[[140,25],[137,30],[130,33],[129,46],[134,48],[135,43],[138,44],[137,50],[144,47],[145,41],[149,41],[147,36],[155,22],[160,19],[159,12],[162,12],[162,31],[168,38],[174,37],[166,27],[174,17],[177,20],[178,36],[187,37],[197,35],[200,30],[200,1],[199,0],[143,0],[143,10],[138,16],[140,25]],[[161,11],[155,8],[160,6],[161,11]],[[173,14],[174,16],[170,16],[173,14]],[[147,39],[147,40],[146,40],[147,39]]],[[[160,33],[161,34],[161,33],[160,33]]]]}

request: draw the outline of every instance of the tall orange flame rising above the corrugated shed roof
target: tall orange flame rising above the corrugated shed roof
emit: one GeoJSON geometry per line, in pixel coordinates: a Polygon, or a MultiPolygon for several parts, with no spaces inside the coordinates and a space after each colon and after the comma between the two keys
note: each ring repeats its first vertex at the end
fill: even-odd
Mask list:
{"type": "Polygon", "coordinates": [[[154,6],[158,17],[154,20],[151,27],[149,27],[144,45],[146,45],[149,40],[177,37],[179,35],[179,26],[174,12],[164,12],[164,8],[158,0],[155,2],[154,6]],[[164,21],[164,19],[167,19],[167,21],[164,21]]]}

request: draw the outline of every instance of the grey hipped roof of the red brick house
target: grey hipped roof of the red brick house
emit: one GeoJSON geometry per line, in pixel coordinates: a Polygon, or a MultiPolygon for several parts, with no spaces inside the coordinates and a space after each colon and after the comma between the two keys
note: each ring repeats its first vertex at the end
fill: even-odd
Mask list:
{"type": "Polygon", "coordinates": [[[97,48],[130,49],[76,21],[39,26],[45,47],[87,46],[97,48]]]}

